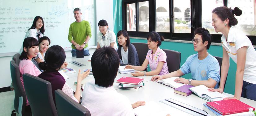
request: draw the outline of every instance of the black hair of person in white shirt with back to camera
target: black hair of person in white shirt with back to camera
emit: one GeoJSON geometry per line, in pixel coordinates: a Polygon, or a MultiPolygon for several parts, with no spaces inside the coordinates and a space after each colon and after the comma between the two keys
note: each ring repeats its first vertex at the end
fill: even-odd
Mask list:
{"type": "Polygon", "coordinates": [[[95,50],[91,57],[91,68],[95,84],[102,87],[113,85],[119,67],[119,56],[113,47],[95,50]]]}

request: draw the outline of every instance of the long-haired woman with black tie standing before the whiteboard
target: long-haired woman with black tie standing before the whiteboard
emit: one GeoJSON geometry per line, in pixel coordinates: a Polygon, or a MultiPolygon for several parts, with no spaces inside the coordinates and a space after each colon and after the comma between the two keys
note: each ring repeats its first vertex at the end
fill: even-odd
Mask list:
{"type": "MultiPolygon", "coordinates": [[[[24,38],[32,37],[36,38],[37,40],[41,38],[44,34],[44,20],[40,16],[36,16],[34,18],[32,26],[26,32],[24,38]]],[[[21,46],[20,53],[23,51],[23,46],[21,46]]]]}

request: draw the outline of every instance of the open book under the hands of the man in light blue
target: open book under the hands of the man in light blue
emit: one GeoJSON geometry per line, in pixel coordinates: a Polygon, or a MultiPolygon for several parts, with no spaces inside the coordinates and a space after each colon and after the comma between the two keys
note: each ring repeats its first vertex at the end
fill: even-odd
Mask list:
{"type": "Polygon", "coordinates": [[[158,80],[157,82],[161,83],[161,84],[164,84],[166,86],[170,86],[174,89],[180,87],[180,86],[183,86],[185,84],[183,83],[176,83],[174,80],[176,78],[179,78],[179,77],[171,77],[171,78],[166,78],[166,79],[162,79],[162,80],[158,80]]]}

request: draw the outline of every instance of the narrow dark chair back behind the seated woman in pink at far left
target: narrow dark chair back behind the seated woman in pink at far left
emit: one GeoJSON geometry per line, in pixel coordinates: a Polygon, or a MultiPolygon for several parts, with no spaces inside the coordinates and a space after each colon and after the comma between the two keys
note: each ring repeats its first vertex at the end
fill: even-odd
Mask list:
{"type": "Polygon", "coordinates": [[[14,87],[14,109],[18,114],[25,113],[26,94],[20,81],[20,68],[14,60],[10,62],[11,80],[14,87]]]}

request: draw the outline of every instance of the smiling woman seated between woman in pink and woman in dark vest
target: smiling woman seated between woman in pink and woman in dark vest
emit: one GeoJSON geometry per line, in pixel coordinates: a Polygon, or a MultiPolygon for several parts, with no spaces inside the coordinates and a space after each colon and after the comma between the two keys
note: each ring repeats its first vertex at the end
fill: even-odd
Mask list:
{"type": "Polygon", "coordinates": [[[38,69],[43,72],[43,70],[41,70],[38,66],[38,64],[40,62],[44,62],[44,55],[46,50],[48,50],[50,44],[51,44],[51,40],[44,36],[42,38],[38,39],[38,43],[39,43],[39,52],[36,58],[34,58],[32,61],[34,62],[34,64],[38,67],[38,69]]]}

